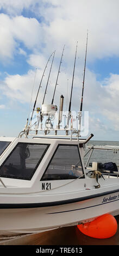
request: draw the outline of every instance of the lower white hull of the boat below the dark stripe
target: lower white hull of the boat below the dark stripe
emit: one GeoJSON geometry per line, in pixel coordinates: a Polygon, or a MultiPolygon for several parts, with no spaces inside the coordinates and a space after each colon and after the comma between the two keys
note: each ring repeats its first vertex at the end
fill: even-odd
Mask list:
{"type": "Polygon", "coordinates": [[[106,213],[119,214],[119,192],[54,206],[14,208],[12,204],[12,209],[0,209],[0,234],[40,233],[91,221],[106,213]]]}

